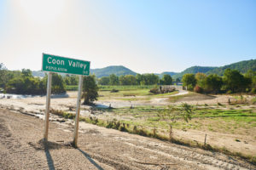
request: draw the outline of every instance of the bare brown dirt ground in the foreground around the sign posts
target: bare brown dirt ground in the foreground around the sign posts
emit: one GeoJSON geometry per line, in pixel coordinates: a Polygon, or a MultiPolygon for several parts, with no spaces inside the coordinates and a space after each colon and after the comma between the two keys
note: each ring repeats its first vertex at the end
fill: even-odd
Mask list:
{"type": "Polygon", "coordinates": [[[49,122],[0,109],[0,169],[255,169],[246,161],[80,122],[79,148],[69,145],[73,122],[49,122]]]}

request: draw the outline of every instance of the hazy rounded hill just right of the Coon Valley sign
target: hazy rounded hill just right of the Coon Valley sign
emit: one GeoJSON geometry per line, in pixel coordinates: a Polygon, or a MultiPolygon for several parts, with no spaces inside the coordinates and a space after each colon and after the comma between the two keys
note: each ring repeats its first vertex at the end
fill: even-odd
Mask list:
{"type": "Polygon", "coordinates": [[[91,69],[90,74],[95,74],[98,78],[108,77],[111,74],[115,74],[118,77],[121,75],[137,75],[136,72],[131,71],[130,69],[122,65],[108,66],[102,69],[91,69]]]}

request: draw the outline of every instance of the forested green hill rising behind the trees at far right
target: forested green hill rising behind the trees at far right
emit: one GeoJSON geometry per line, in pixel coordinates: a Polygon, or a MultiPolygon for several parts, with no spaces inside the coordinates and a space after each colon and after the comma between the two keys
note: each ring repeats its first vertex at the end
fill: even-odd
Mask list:
{"type": "Polygon", "coordinates": [[[224,65],[218,68],[215,68],[211,71],[207,71],[207,74],[218,74],[220,76],[223,76],[225,69],[236,69],[237,71],[240,71],[241,73],[246,73],[248,70],[252,69],[253,71],[256,71],[256,59],[251,60],[245,60],[240,61],[237,63],[233,63],[231,65],[224,65]]]}

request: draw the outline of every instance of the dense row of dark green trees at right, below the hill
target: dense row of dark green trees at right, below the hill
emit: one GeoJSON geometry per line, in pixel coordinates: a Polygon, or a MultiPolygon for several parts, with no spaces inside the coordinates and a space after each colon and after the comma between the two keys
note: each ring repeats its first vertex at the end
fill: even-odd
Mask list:
{"type": "Polygon", "coordinates": [[[206,94],[221,93],[252,93],[256,94],[256,71],[249,70],[246,74],[240,71],[231,70],[224,71],[224,76],[217,74],[206,75],[204,73],[185,74],[182,78],[183,86],[190,91],[206,94]]]}

